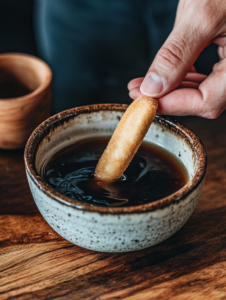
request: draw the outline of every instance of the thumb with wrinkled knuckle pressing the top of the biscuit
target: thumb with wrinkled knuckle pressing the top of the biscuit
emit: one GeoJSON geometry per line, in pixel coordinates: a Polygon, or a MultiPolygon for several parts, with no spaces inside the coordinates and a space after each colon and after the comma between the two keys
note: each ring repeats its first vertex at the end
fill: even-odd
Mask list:
{"type": "Polygon", "coordinates": [[[161,97],[174,90],[191,69],[199,54],[208,44],[200,30],[191,23],[177,24],[157,53],[140,91],[152,97],[161,97]]]}

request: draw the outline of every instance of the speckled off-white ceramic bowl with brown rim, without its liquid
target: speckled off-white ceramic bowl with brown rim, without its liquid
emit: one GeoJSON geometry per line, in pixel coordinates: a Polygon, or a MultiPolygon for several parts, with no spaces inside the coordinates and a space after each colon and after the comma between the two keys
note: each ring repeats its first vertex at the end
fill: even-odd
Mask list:
{"type": "Polygon", "coordinates": [[[178,156],[190,178],[169,197],[139,206],[98,207],[63,196],[42,180],[40,169],[48,157],[84,137],[112,135],[126,108],[101,104],[59,113],[32,133],[25,149],[27,178],[41,214],[61,236],[87,249],[126,252],[164,241],[189,219],[202,190],[206,170],[202,143],[186,126],[159,116],[145,140],[178,156]]]}

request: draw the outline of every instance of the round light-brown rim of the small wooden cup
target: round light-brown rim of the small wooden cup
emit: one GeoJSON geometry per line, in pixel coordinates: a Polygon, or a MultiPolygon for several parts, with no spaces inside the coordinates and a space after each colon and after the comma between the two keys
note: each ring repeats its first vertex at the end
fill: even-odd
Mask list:
{"type": "Polygon", "coordinates": [[[44,80],[44,82],[42,82],[35,90],[33,90],[32,92],[24,95],[24,96],[20,96],[20,97],[12,97],[12,98],[0,98],[0,104],[4,105],[7,102],[10,102],[12,105],[14,105],[14,103],[18,102],[18,101],[30,101],[30,98],[35,98],[36,95],[42,93],[45,89],[47,89],[49,87],[49,85],[52,82],[52,70],[50,69],[49,65],[44,62],[42,59],[31,55],[31,54],[26,54],[26,53],[19,53],[19,52],[9,52],[9,53],[1,53],[0,54],[0,60],[6,60],[6,59],[23,59],[23,60],[33,60],[33,61],[37,61],[38,63],[42,64],[43,67],[46,70],[46,79],[44,80]]]}

